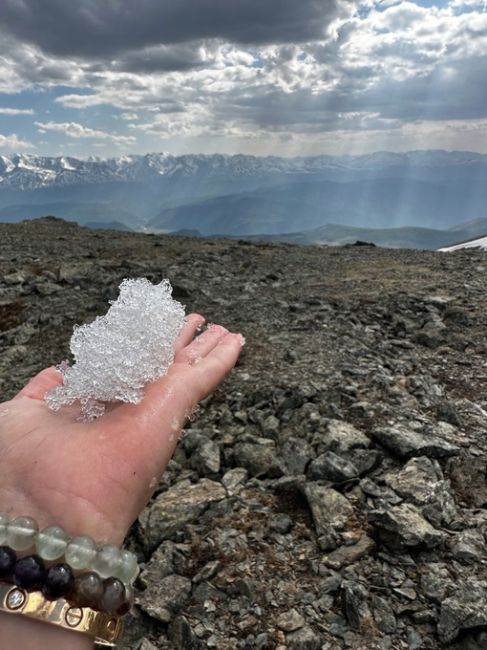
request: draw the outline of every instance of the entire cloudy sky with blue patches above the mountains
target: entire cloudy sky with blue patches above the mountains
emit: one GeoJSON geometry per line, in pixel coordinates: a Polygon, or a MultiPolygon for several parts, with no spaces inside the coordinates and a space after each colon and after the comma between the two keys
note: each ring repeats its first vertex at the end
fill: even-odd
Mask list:
{"type": "Polygon", "coordinates": [[[487,0],[1,0],[0,154],[487,153],[487,0]]]}

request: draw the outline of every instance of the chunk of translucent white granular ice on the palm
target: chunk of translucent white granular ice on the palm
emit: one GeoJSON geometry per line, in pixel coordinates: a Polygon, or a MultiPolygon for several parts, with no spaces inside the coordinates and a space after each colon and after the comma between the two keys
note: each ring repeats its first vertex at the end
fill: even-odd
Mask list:
{"type": "Polygon", "coordinates": [[[103,402],[139,403],[145,384],[165,375],[174,357],[185,314],[171,293],[168,280],[124,280],[104,316],[75,327],[74,364],[58,366],[63,384],[46,393],[48,406],[57,411],[79,401],[82,419],[92,420],[103,402]]]}

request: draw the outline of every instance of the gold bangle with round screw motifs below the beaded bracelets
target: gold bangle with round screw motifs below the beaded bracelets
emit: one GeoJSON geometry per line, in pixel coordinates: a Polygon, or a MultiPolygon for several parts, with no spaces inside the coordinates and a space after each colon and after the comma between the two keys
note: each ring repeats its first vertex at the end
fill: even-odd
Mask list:
{"type": "Polygon", "coordinates": [[[23,614],[38,621],[59,625],[67,630],[89,634],[105,647],[116,647],[122,633],[122,619],[89,607],[77,607],[64,598],[47,600],[40,591],[28,592],[0,582],[0,611],[23,614]]]}

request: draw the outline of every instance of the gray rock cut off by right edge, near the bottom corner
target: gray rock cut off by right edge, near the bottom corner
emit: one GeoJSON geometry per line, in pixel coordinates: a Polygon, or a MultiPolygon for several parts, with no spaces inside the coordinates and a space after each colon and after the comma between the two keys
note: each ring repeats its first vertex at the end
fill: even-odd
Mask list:
{"type": "Polygon", "coordinates": [[[469,580],[441,603],[438,634],[449,643],[460,630],[487,626],[487,582],[469,580]]]}

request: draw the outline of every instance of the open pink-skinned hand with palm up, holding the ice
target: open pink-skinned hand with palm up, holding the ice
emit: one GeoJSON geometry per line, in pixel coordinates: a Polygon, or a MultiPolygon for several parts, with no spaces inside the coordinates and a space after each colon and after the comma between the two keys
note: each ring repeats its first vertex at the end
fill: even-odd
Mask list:
{"type": "Polygon", "coordinates": [[[235,365],[243,339],[187,317],[168,373],[140,404],[114,404],[92,422],[76,405],[51,411],[43,398],[62,382],[55,368],[0,404],[0,511],[39,526],[120,544],[150,499],[196,404],[235,365]],[[194,340],[193,340],[194,339],[194,340]],[[196,362],[195,362],[196,361],[196,362]]]}

